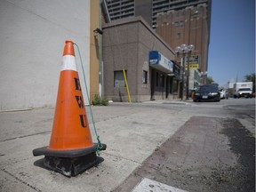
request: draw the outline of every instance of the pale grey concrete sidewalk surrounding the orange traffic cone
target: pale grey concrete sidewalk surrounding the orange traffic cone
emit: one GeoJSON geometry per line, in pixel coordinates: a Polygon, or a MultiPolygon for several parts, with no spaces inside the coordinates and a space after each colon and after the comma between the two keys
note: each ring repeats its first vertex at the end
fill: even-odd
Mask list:
{"type": "MultiPolygon", "coordinates": [[[[213,117],[230,117],[220,114],[218,108],[214,113],[212,108],[213,117]]],[[[100,140],[107,144],[107,150],[101,152],[97,166],[71,178],[45,169],[44,156],[32,155],[33,149],[49,145],[54,108],[1,112],[0,191],[118,191],[124,180],[192,116],[212,116],[204,111],[195,113],[195,109],[191,100],[92,107],[100,140]],[[190,111],[184,112],[180,106],[190,111]]],[[[89,108],[86,111],[96,141],[89,108]]],[[[136,191],[138,184],[131,188],[136,191]]]]}

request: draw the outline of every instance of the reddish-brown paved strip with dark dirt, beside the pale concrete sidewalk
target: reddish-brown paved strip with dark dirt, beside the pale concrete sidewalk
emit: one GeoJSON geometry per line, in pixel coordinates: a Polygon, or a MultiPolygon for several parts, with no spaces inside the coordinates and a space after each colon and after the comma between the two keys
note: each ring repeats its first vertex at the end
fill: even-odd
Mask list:
{"type": "Polygon", "coordinates": [[[116,191],[145,177],[188,191],[255,191],[255,138],[236,119],[192,117],[116,191]]]}

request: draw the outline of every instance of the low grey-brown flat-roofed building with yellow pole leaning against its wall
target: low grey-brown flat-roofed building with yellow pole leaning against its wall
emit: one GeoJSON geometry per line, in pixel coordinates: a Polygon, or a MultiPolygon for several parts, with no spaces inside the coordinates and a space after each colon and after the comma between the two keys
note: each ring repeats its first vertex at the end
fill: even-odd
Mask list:
{"type": "Polygon", "coordinates": [[[175,52],[142,17],[115,20],[102,29],[104,94],[108,100],[128,100],[124,74],[133,102],[172,98],[179,92],[179,66],[173,63],[175,74],[149,64],[151,51],[161,52],[169,62],[175,52]]]}

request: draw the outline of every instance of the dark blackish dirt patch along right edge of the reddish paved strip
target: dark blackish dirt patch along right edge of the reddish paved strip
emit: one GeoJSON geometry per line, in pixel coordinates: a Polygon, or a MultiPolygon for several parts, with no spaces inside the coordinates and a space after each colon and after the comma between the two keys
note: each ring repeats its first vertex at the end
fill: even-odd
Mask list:
{"type": "Polygon", "coordinates": [[[222,124],[221,133],[228,136],[230,150],[238,156],[232,184],[240,191],[255,191],[255,138],[236,119],[225,119],[222,124]]]}

